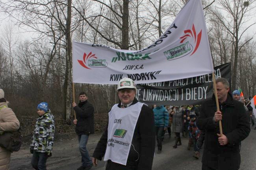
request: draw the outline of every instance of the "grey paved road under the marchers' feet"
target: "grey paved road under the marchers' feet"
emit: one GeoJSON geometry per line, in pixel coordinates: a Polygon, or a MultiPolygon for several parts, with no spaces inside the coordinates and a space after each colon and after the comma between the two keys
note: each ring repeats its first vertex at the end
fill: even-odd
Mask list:
{"type": "MultiPolygon", "coordinates": [[[[89,153],[92,155],[96,142],[100,137],[100,133],[95,134],[89,138],[88,148],[89,153]]],[[[81,157],[78,152],[78,145],[73,146],[72,143],[76,142],[76,139],[69,141],[70,150],[68,152],[62,152],[64,148],[59,147],[56,143],[56,150],[54,153],[62,152],[63,154],[53,156],[47,161],[48,170],[76,170],[80,166],[81,157]],[[72,144],[72,145],[71,145],[72,144]]],[[[201,158],[196,160],[193,156],[193,149],[186,150],[188,143],[187,138],[182,138],[182,145],[177,149],[173,149],[174,137],[168,137],[165,135],[163,141],[163,151],[161,154],[156,154],[153,162],[153,170],[200,170],[201,158]]],[[[67,143],[67,145],[69,145],[67,143]]],[[[65,148],[68,149],[68,148],[65,148]]],[[[24,151],[28,152],[28,151],[24,151]]],[[[12,156],[10,170],[32,170],[30,166],[31,155],[24,153],[20,156],[12,156]]],[[[241,166],[239,170],[256,170],[256,130],[251,129],[249,137],[242,141],[241,148],[241,166]]],[[[92,170],[104,170],[104,161],[99,161],[97,167],[93,167],[92,170]]]]}

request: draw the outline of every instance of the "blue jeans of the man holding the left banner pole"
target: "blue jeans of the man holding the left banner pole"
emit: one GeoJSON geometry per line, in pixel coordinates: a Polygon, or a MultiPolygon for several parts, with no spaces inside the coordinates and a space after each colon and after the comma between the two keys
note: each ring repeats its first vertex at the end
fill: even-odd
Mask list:
{"type": "Polygon", "coordinates": [[[78,135],[79,151],[82,156],[82,166],[84,167],[87,167],[93,163],[86,149],[88,138],[89,138],[89,135],[78,135]]]}

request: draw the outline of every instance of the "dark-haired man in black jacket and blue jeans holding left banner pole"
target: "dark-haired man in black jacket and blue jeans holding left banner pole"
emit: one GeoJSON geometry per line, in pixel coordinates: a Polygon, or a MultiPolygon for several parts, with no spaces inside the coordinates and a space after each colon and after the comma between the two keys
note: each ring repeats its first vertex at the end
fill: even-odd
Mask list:
{"type": "Polygon", "coordinates": [[[79,150],[82,155],[82,166],[77,170],[89,170],[93,166],[90,155],[86,149],[86,144],[90,134],[94,133],[94,108],[87,101],[85,92],[79,94],[80,102],[78,106],[73,102],[72,106],[76,112],[76,118],[73,122],[76,125],[76,134],[78,135],[79,150]]]}

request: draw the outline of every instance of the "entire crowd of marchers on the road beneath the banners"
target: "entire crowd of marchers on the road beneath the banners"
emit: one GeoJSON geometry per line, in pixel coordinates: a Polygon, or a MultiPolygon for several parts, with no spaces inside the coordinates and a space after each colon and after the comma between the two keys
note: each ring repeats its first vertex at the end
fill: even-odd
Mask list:
{"type": "MultiPolygon", "coordinates": [[[[254,126],[255,115],[249,100],[239,90],[231,93],[226,79],[217,79],[216,87],[217,100],[213,95],[200,106],[154,105],[150,108],[135,98],[134,81],[121,79],[117,85],[120,101],[109,111],[108,124],[92,157],[86,145],[89,135],[94,133],[94,108],[82,91],[79,103],[72,103],[82,156],[77,170],[93,169],[102,159],[106,161],[106,170],[151,170],[156,145],[157,154],[165,149],[162,147],[165,133],[169,137],[175,134],[173,149],[182,145],[182,138],[188,137],[187,150],[193,146],[195,159],[200,158],[203,148],[202,170],[238,170],[241,141],[250,133],[250,122],[254,126]]],[[[20,126],[7,104],[4,91],[0,89],[0,135],[17,131],[20,126]]],[[[36,170],[46,170],[46,161],[52,156],[54,144],[54,116],[47,102],[38,104],[37,114],[30,144],[31,165],[36,170]]],[[[10,157],[11,152],[0,141],[0,170],[9,170],[10,157]]]]}

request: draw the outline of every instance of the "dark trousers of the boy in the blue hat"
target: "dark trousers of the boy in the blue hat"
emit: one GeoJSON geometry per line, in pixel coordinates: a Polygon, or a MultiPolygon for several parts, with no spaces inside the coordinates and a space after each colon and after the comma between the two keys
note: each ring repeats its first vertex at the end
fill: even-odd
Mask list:
{"type": "Polygon", "coordinates": [[[31,165],[35,170],[46,170],[46,161],[47,161],[46,152],[36,152],[34,150],[31,165]]]}

